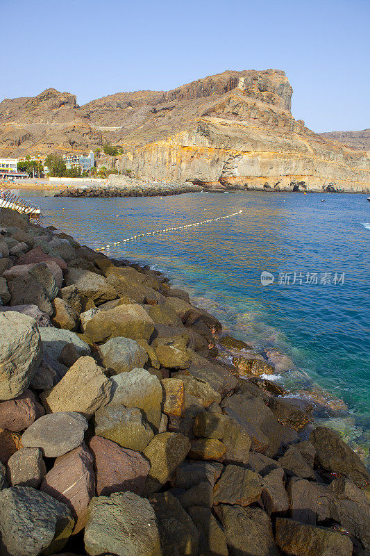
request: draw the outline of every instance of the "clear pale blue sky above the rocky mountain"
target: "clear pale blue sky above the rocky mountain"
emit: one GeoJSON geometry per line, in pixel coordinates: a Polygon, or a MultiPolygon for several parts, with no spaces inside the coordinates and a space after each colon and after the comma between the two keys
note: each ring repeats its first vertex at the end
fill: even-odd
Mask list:
{"type": "Polygon", "coordinates": [[[78,104],[224,70],[285,70],[314,131],[370,127],[370,0],[0,0],[0,100],[78,104]],[[6,76],[6,79],[4,77],[6,76]]]}

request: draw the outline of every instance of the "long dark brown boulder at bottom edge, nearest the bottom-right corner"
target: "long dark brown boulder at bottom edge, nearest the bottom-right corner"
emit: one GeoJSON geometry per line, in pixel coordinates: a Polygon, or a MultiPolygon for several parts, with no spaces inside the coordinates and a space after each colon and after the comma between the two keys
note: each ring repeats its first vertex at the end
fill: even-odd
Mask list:
{"type": "Polygon", "coordinates": [[[351,539],[339,531],[298,523],[293,519],[276,519],[276,542],[293,556],[351,556],[351,539]]]}

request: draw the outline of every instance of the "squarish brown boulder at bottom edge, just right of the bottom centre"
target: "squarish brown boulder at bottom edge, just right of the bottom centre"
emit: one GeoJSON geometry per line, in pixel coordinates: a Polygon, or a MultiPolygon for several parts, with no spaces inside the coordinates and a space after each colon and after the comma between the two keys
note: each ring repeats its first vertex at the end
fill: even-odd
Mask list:
{"type": "Polygon", "coordinates": [[[269,516],[260,508],[217,506],[230,556],[278,556],[269,516]]]}

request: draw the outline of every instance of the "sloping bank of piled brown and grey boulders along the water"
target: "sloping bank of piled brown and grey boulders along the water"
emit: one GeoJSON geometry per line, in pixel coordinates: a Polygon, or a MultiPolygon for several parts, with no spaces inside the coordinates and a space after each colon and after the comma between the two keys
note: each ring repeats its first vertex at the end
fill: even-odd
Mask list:
{"type": "Polygon", "coordinates": [[[0,254],[1,554],[369,554],[366,467],[262,352],[8,209],[0,254]]]}

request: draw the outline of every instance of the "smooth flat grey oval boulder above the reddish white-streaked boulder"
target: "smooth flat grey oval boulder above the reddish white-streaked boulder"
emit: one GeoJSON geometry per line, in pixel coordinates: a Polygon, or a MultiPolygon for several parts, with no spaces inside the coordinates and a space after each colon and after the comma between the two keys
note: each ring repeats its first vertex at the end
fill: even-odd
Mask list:
{"type": "Polygon", "coordinates": [[[41,448],[45,457],[58,457],[81,446],[87,420],[79,413],[60,411],[37,419],[22,435],[25,448],[41,448]]]}

